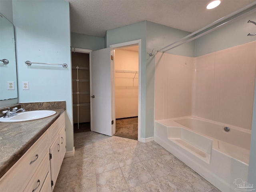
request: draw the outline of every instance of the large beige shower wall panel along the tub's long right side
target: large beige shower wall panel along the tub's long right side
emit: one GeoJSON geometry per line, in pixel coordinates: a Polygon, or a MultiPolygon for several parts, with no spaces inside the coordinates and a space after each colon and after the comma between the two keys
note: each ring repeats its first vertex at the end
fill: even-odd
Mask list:
{"type": "Polygon", "coordinates": [[[196,58],[194,114],[251,129],[256,42],[196,58]]]}

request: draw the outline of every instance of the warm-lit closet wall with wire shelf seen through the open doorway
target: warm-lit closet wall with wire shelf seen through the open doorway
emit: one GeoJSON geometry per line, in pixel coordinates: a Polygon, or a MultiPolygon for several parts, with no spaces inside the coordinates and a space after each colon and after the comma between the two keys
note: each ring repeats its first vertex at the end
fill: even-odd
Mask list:
{"type": "MultiPolygon", "coordinates": [[[[116,49],[114,58],[116,70],[138,71],[138,52],[116,49]]],[[[138,116],[138,74],[115,73],[115,77],[115,118],[138,116]]]]}

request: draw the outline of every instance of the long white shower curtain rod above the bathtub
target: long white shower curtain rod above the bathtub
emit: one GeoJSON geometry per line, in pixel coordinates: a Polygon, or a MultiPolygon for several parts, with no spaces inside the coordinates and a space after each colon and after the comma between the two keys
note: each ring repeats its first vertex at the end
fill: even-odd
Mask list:
{"type": "Polygon", "coordinates": [[[206,35],[206,34],[212,32],[212,31],[214,31],[214,30],[216,30],[216,29],[218,29],[218,28],[220,28],[220,27],[222,27],[222,26],[228,24],[229,22],[233,22],[234,20],[237,20],[237,19],[242,18],[242,17],[244,17],[244,16],[250,15],[250,14],[252,14],[252,13],[254,13],[254,12],[256,12],[256,8],[254,8],[254,9],[252,9],[252,10],[250,10],[250,11],[248,11],[248,12],[246,12],[246,13],[240,15],[240,16],[237,16],[237,17],[235,17],[235,18],[232,18],[231,20],[228,20],[228,21],[226,21],[226,22],[224,22],[224,23],[222,23],[222,24],[220,24],[220,25],[218,25],[218,26],[216,26],[216,27],[214,27],[214,28],[212,28],[212,29],[210,29],[210,30],[208,30],[208,31],[206,31],[206,32],[203,32],[203,33],[201,33],[201,34],[199,34],[199,35],[197,35],[197,36],[195,36],[195,37],[193,37],[193,38],[190,38],[190,39],[188,39],[188,40],[186,40],[186,41],[184,41],[184,42],[181,42],[181,43],[179,43],[179,44],[177,44],[177,45],[175,45],[175,46],[172,46],[172,47],[170,47],[169,49],[164,50],[163,53],[166,52],[166,51],[169,51],[169,50],[171,50],[171,49],[173,49],[173,48],[176,48],[176,47],[178,47],[178,46],[180,46],[180,45],[182,45],[182,44],[185,44],[185,43],[188,43],[188,42],[190,42],[190,41],[192,41],[192,40],[195,40],[195,39],[197,39],[197,38],[200,38],[200,37],[202,37],[202,36],[204,36],[204,35],[206,35]]]}

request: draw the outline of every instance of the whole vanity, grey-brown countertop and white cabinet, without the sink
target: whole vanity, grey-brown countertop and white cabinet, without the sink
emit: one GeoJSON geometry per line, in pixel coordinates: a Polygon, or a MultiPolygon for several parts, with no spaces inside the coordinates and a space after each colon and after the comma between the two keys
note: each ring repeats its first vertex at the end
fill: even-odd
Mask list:
{"type": "Polygon", "coordinates": [[[65,110],[50,117],[0,123],[0,191],[49,192],[66,153],[65,110]]]}

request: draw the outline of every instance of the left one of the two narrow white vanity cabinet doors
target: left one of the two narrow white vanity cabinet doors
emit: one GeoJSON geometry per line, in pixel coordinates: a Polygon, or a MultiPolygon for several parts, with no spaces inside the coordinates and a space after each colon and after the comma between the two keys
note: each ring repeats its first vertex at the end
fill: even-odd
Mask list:
{"type": "Polygon", "coordinates": [[[56,184],[56,180],[60,171],[60,144],[59,137],[56,137],[52,146],[50,147],[50,154],[52,154],[52,158],[50,159],[51,165],[51,178],[53,181],[52,190],[56,184]]]}

